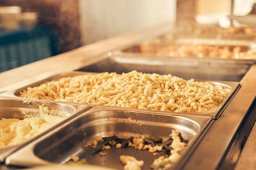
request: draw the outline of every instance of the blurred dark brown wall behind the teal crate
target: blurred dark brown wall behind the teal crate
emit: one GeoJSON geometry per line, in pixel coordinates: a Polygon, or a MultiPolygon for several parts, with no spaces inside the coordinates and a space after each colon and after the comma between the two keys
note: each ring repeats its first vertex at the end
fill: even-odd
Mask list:
{"type": "Polygon", "coordinates": [[[38,23],[50,25],[59,37],[59,52],[81,46],[78,0],[0,0],[0,6],[36,11],[38,23]]]}

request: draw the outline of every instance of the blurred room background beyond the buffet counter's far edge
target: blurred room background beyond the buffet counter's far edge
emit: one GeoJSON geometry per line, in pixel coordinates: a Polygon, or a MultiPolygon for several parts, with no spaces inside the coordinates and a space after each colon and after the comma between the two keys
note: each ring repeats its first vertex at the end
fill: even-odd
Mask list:
{"type": "Polygon", "coordinates": [[[0,72],[165,23],[172,23],[182,34],[244,32],[237,29],[244,25],[229,20],[227,15],[246,15],[252,12],[254,3],[253,0],[0,0],[0,72]]]}

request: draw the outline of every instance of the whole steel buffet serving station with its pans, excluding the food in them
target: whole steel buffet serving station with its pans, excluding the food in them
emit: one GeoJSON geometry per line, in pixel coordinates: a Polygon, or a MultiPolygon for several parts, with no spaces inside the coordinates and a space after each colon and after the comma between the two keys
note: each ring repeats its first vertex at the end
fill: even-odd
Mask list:
{"type": "MultiPolygon", "coordinates": [[[[256,142],[250,138],[250,135],[256,134],[255,128],[252,130],[256,118],[256,55],[245,58],[198,57],[189,54],[173,57],[168,56],[168,53],[165,55],[150,51],[143,53],[141,46],[143,45],[144,50],[156,50],[171,42],[179,45],[204,43],[231,46],[230,49],[242,46],[241,48],[254,52],[253,40],[239,36],[240,39],[236,41],[200,38],[187,38],[185,41],[172,32],[175,31],[171,24],[159,25],[92,43],[1,73],[0,102],[3,103],[3,107],[7,107],[4,102],[13,101],[13,103],[63,104],[65,107],[73,108],[73,111],[70,110],[71,116],[65,121],[8,152],[3,159],[1,157],[1,168],[20,169],[56,163],[65,164],[70,159],[70,155],[76,153],[79,157],[86,158],[90,164],[122,169],[122,164],[111,163],[111,160],[116,159],[116,155],[121,154],[119,152],[106,157],[95,156],[94,160],[90,160],[92,157],[86,155],[86,150],[81,149],[84,144],[84,132],[88,135],[86,137],[88,141],[92,142],[102,134],[110,136],[113,133],[129,133],[136,136],[141,133],[158,132],[164,139],[172,129],[178,129],[189,143],[179,161],[166,169],[250,169],[253,162],[246,162],[247,157],[256,160],[250,148],[246,147],[256,142]],[[156,42],[159,47],[156,47],[156,42]],[[172,74],[186,80],[193,78],[198,81],[210,81],[214,85],[230,89],[230,94],[215,110],[195,113],[57,103],[19,97],[20,91],[28,87],[67,76],[88,72],[128,73],[132,70],[142,73],[172,74]],[[129,117],[136,117],[138,122],[143,122],[142,125],[121,121],[129,117]],[[135,125],[136,129],[132,131],[135,125]]],[[[145,160],[143,169],[148,169],[150,167],[148,161],[152,162],[153,158],[143,158],[143,155],[142,151],[138,152],[138,157],[145,160]]]]}

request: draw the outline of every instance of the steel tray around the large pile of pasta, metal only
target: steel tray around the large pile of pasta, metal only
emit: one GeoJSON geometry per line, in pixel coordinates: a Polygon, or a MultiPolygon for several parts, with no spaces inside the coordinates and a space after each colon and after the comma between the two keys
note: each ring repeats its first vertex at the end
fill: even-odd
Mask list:
{"type": "MultiPolygon", "coordinates": [[[[38,86],[38,85],[40,85],[42,83],[45,83],[47,81],[59,80],[60,78],[63,78],[63,77],[76,76],[76,75],[81,75],[81,74],[92,74],[92,73],[72,72],[72,73],[57,74],[55,76],[45,78],[44,80],[37,81],[35,83],[31,83],[29,85],[26,85],[25,87],[20,87],[19,89],[14,90],[13,92],[5,92],[4,94],[1,94],[1,95],[2,96],[7,96],[7,97],[17,97],[19,99],[26,99],[26,98],[21,98],[21,97],[18,97],[18,96],[19,96],[19,94],[22,90],[25,90],[28,87],[35,87],[35,86],[38,86]]],[[[225,98],[225,100],[221,103],[221,105],[218,108],[214,109],[214,110],[206,111],[206,112],[187,113],[187,114],[189,114],[189,115],[206,115],[206,116],[210,116],[212,118],[220,117],[221,112],[225,109],[228,102],[232,99],[232,97],[234,96],[234,94],[236,94],[237,90],[240,87],[239,82],[232,82],[232,81],[210,81],[210,82],[214,85],[221,85],[222,87],[230,89],[231,90],[230,94],[225,98]]],[[[115,107],[113,107],[113,108],[115,108],[115,107]]],[[[176,112],[169,112],[169,113],[176,114],[176,112]]],[[[184,114],[186,114],[186,113],[184,113],[184,114]]]]}

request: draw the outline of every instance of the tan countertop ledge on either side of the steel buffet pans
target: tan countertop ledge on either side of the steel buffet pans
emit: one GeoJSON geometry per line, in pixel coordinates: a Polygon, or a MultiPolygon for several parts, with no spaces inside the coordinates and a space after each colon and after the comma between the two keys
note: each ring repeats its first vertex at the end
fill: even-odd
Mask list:
{"type": "MultiPolygon", "coordinates": [[[[92,63],[100,60],[100,55],[102,57],[103,53],[141,41],[141,39],[156,36],[157,34],[161,34],[161,32],[167,32],[171,29],[171,24],[163,24],[147,30],[123,34],[26,66],[5,71],[0,73],[0,92],[16,89],[18,83],[19,85],[22,83],[26,84],[28,81],[35,81],[35,78],[42,79],[52,76],[53,74],[74,71],[89,65],[90,62],[92,63]]],[[[241,157],[237,162],[236,169],[256,169],[255,143],[256,125],[254,125],[252,132],[246,141],[241,157]]]]}

